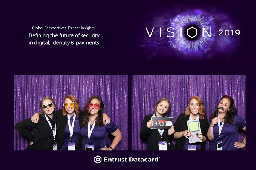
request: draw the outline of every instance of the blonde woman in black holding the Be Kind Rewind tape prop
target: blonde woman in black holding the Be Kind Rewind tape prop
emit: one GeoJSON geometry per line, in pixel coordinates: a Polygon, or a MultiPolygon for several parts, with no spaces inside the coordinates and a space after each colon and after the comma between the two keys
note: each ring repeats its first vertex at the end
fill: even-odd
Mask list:
{"type": "Polygon", "coordinates": [[[175,132],[173,126],[171,127],[171,129],[168,130],[151,129],[151,117],[167,117],[166,114],[170,112],[170,109],[170,100],[168,100],[167,98],[161,98],[156,103],[154,113],[144,117],[140,130],[140,139],[143,142],[147,142],[147,150],[174,150],[173,142],[171,141],[171,139],[173,138],[173,133],[175,132]]]}

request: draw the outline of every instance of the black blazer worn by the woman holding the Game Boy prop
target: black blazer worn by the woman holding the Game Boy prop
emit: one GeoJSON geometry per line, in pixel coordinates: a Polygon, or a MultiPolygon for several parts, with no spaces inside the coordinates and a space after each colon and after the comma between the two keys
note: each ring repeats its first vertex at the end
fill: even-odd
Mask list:
{"type": "MultiPolygon", "coordinates": [[[[188,115],[188,117],[185,117],[185,114],[180,114],[180,116],[177,118],[175,124],[174,124],[174,129],[175,132],[181,132],[184,130],[188,130],[188,125],[187,125],[187,121],[189,120],[190,114],[188,115]]],[[[201,128],[201,132],[203,134],[203,136],[206,138],[206,140],[208,139],[207,137],[207,132],[209,129],[209,122],[207,118],[199,119],[200,122],[200,128],[201,128]]],[[[183,148],[183,146],[185,145],[186,142],[186,137],[182,136],[179,139],[176,139],[176,144],[175,144],[175,148],[174,150],[181,150],[183,148]]],[[[202,150],[205,150],[205,146],[203,144],[203,142],[199,142],[202,146],[202,150]]],[[[195,143],[197,144],[197,143],[195,143]]]]}

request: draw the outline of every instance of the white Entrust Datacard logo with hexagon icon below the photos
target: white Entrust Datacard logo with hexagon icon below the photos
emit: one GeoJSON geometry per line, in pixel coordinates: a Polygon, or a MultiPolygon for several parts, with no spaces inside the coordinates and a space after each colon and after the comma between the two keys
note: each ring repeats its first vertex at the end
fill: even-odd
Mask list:
{"type": "MultiPolygon", "coordinates": [[[[103,162],[158,162],[160,157],[156,158],[108,158],[104,157],[103,162]]],[[[101,163],[102,158],[98,155],[94,157],[94,162],[99,164],[101,163]]]]}

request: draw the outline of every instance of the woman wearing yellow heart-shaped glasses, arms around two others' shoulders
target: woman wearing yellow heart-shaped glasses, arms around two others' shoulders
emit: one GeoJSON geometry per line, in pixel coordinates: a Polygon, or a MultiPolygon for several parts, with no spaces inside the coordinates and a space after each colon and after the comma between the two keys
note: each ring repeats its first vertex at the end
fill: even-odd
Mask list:
{"type": "MultiPolygon", "coordinates": [[[[41,113],[39,113],[41,114],[41,113]]],[[[58,120],[57,149],[58,150],[79,150],[82,145],[80,128],[82,127],[83,111],[80,109],[76,97],[68,95],[64,98],[63,108],[54,114],[58,120]],[[80,147],[79,147],[80,146],[80,147]]],[[[36,122],[38,115],[31,117],[36,122]]],[[[110,122],[109,117],[104,114],[105,124],[110,122]]]]}

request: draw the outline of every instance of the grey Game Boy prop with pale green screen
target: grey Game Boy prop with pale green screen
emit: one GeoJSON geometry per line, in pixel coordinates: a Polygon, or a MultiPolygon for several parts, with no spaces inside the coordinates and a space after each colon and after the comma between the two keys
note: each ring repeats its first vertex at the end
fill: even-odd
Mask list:
{"type": "Polygon", "coordinates": [[[189,137],[189,143],[202,142],[201,139],[198,138],[198,134],[201,133],[200,122],[199,120],[188,120],[188,131],[191,132],[191,137],[189,137]]]}

